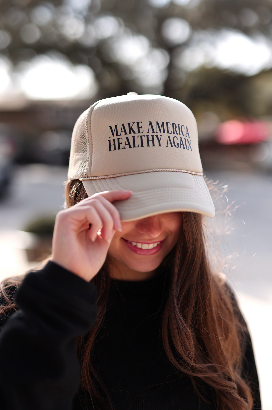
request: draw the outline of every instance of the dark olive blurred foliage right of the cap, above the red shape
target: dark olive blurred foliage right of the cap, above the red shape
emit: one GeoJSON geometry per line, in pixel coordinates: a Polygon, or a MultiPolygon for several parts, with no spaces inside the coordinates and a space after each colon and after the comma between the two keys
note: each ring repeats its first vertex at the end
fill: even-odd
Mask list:
{"type": "Polygon", "coordinates": [[[271,69],[248,77],[201,67],[187,73],[180,87],[169,87],[165,91],[169,97],[190,107],[197,120],[203,112],[214,112],[220,121],[272,114],[271,69]]]}

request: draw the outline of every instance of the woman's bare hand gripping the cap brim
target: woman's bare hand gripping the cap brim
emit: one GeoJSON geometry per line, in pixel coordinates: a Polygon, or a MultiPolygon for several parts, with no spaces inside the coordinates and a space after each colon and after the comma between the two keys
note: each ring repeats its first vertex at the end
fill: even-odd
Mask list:
{"type": "Polygon", "coordinates": [[[60,211],[53,233],[52,261],[89,282],[103,266],[114,232],[122,230],[112,202],[130,194],[105,191],[60,211]]]}

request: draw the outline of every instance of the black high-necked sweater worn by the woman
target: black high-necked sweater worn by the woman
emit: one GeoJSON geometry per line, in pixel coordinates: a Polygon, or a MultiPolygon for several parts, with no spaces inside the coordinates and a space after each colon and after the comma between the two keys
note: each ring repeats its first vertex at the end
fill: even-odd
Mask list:
{"type": "MultiPolygon", "coordinates": [[[[75,337],[85,335],[94,324],[95,293],[94,285],[53,262],[26,276],[16,296],[20,309],[8,320],[1,318],[2,410],[93,409],[90,396],[79,387],[75,337]]],[[[213,390],[198,382],[200,399],[192,380],[171,366],[162,348],[161,321],[167,293],[164,272],[142,282],[112,281],[92,360],[114,410],[216,408],[213,390]]],[[[250,339],[244,371],[255,387],[254,409],[260,409],[250,339]]]]}

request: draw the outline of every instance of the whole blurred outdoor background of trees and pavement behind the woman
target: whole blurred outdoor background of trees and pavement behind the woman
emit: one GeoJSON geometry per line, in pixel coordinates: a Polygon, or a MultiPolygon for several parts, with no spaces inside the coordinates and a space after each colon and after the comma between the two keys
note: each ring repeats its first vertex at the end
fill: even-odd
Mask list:
{"type": "Polygon", "coordinates": [[[220,197],[216,269],[272,410],[271,0],[0,1],[0,278],[50,253],[79,114],[130,91],[176,98],[197,119],[220,197]]]}

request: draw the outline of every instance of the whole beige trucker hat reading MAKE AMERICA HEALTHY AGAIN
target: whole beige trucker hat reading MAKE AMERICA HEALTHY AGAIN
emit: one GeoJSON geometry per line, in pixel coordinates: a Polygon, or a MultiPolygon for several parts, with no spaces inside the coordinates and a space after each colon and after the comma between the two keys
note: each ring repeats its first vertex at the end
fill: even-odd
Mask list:
{"type": "Polygon", "coordinates": [[[88,196],[132,191],[114,203],[122,221],[174,211],[215,215],[196,120],[173,98],[128,93],[91,105],[75,123],[68,178],[80,179],[88,196]]]}

